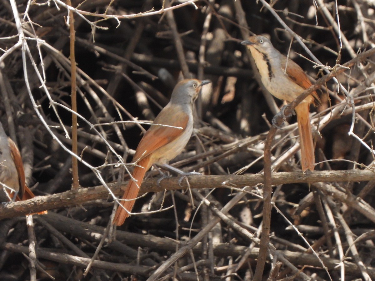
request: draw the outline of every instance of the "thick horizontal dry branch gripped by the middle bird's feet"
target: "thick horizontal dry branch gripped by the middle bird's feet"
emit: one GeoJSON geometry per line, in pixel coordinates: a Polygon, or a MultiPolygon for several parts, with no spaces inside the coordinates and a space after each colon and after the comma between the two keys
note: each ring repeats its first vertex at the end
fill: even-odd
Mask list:
{"type": "MultiPolygon", "coordinates": [[[[236,188],[252,187],[264,184],[262,174],[255,175],[226,175],[226,176],[189,176],[189,185],[185,181],[179,185],[178,177],[163,179],[157,185],[157,179],[145,179],[140,193],[160,192],[164,190],[180,190],[189,188],[236,188]]],[[[358,202],[353,194],[345,194],[334,187],[327,189],[324,182],[361,182],[375,179],[375,172],[370,170],[343,170],[343,171],[314,171],[303,172],[278,172],[272,173],[272,185],[306,183],[319,184],[323,191],[337,196],[342,202],[353,200],[358,202]],[[353,196],[351,198],[351,196],[353,196]]],[[[127,182],[108,184],[113,193],[119,196],[126,188],[127,182]]],[[[65,191],[63,193],[51,194],[48,196],[37,196],[30,200],[8,203],[0,206],[0,219],[11,218],[22,214],[30,214],[42,210],[51,210],[69,206],[81,205],[93,200],[105,200],[108,197],[107,188],[99,185],[96,187],[80,188],[75,191],[65,191]]],[[[375,213],[374,213],[375,215],[375,213]]]]}

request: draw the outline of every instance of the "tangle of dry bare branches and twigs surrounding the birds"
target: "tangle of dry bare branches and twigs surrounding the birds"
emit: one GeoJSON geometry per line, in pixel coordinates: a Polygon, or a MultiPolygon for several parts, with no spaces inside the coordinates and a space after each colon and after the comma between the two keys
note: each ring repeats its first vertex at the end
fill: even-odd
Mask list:
{"type": "Polygon", "coordinates": [[[40,195],[0,206],[0,280],[375,279],[371,1],[67,3],[0,2],[0,120],[40,195]],[[295,117],[270,124],[282,101],[239,44],[253,33],[317,81],[285,111],[318,90],[314,172],[295,117]],[[152,169],[115,230],[134,149],[188,77],[212,89],[170,164],[202,175],[152,169]]]}

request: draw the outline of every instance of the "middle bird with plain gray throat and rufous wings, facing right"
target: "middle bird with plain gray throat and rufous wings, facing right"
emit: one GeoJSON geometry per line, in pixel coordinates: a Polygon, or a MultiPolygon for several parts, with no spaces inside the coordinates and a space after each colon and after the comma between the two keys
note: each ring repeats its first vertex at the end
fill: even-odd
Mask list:
{"type": "Polygon", "coordinates": [[[174,87],[169,103],[156,116],[154,125],[147,130],[136,148],[132,179],[127,184],[121,206],[118,206],[113,220],[117,226],[121,226],[129,217],[147,170],[153,164],[166,164],[186,146],[193,132],[193,103],[202,86],[210,82],[184,79],[174,87]]]}

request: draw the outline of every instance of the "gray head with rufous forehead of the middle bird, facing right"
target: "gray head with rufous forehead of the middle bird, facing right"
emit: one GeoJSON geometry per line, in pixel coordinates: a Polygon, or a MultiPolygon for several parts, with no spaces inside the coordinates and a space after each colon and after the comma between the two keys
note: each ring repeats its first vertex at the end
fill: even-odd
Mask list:
{"type": "Polygon", "coordinates": [[[174,87],[171,103],[193,104],[198,97],[199,91],[203,85],[211,83],[209,80],[200,81],[198,79],[184,79],[174,87]]]}

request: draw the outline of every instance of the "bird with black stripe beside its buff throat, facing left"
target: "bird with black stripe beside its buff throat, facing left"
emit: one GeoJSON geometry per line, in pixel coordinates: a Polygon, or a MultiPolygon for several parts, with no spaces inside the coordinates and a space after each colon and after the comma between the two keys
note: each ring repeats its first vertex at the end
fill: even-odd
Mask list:
{"type": "MultiPolygon", "coordinates": [[[[302,68],[275,49],[267,37],[250,36],[248,40],[242,41],[241,44],[246,45],[251,52],[264,87],[278,99],[292,102],[312,85],[302,68]]],[[[294,109],[301,139],[303,172],[306,170],[313,171],[315,168],[314,142],[311,134],[309,111],[311,104],[316,106],[319,103],[318,94],[314,91],[294,109]]]]}

